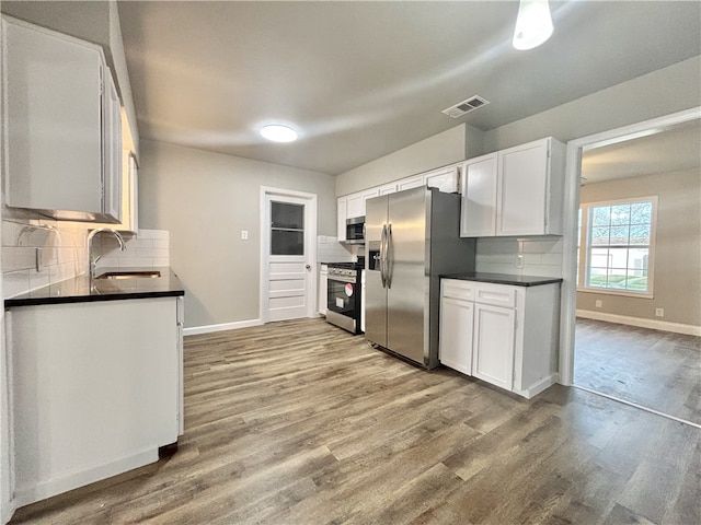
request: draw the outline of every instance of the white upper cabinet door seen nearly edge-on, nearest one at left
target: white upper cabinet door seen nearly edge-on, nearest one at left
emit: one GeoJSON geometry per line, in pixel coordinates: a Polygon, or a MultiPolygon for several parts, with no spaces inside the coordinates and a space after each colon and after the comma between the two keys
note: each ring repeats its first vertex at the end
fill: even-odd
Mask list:
{"type": "Polygon", "coordinates": [[[104,213],[122,222],[122,112],[110,69],[103,68],[102,97],[104,213]]]}

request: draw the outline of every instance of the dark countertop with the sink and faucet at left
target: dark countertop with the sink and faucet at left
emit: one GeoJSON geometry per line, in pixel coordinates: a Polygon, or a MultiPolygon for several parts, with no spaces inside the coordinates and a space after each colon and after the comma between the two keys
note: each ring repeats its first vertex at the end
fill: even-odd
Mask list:
{"type": "Polygon", "coordinates": [[[4,300],[4,306],[36,306],[41,304],[85,303],[92,301],[122,301],[126,299],[175,298],[185,295],[185,289],[170,267],[156,268],[99,268],[97,277],[108,271],[158,270],[161,277],[139,279],[93,279],[87,275],[49,284],[4,300]]]}

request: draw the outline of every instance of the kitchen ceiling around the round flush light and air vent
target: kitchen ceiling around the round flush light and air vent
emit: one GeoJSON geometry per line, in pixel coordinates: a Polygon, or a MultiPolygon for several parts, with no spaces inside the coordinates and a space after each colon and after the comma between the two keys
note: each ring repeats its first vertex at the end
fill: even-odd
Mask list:
{"type": "Polygon", "coordinates": [[[701,54],[698,1],[551,9],[554,34],[530,51],[510,46],[514,1],[124,1],[119,16],[143,138],[335,175],[701,54]],[[491,104],[440,113],[471,95],[491,104]],[[269,121],[300,140],[264,141],[269,121]]]}

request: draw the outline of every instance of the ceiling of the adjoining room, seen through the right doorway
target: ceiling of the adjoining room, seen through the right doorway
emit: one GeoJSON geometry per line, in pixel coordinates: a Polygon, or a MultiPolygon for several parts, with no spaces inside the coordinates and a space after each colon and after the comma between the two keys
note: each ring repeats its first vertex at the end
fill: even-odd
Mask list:
{"type": "Polygon", "coordinates": [[[701,120],[584,152],[586,184],[701,166],[701,120]]]}

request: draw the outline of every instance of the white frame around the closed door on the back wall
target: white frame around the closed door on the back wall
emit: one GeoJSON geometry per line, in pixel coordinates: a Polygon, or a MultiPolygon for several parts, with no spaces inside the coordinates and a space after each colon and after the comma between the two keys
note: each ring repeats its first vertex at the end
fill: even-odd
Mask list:
{"type": "Polygon", "coordinates": [[[268,238],[268,224],[266,223],[267,206],[266,200],[268,197],[279,198],[285,202],[286,198],[302,199],[304,200],[304,249],[308,250],[308,265],[311,266],[311,270],[307,272],[307,317],[317,317],[317,194],[308,194],[304,191],[295,191],[292,189],[273,188],[269,186],[261,186],[261,202],[260,202],[260,224],[261,224],[261,275],[260,275],[260,312],[258,318],[263,323],[267,323],[269,306],[268,306],[268,282],[269,282],[269,238],[268,238]]]}

